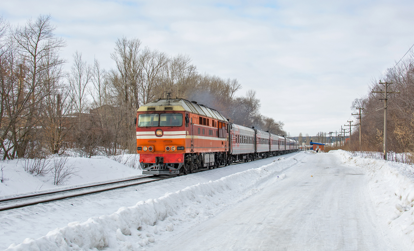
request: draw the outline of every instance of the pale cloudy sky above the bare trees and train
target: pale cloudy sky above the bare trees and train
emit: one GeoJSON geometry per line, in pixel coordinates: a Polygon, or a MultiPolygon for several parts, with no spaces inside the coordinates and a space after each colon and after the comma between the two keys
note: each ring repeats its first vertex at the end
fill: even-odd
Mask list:
{"type": "Polygon", "coordinates": [[[413,45],[413,12],[412,0],[3,0],[0,6],[14,25],[51,14],[69,62],[78,50],[110,69],[122,36],[169,55],[188,54],[199,72],[238,79],[239,95],[255,89],[262,114],[283,121],[293,136],[356,121],[352,100],[413,45]]]}

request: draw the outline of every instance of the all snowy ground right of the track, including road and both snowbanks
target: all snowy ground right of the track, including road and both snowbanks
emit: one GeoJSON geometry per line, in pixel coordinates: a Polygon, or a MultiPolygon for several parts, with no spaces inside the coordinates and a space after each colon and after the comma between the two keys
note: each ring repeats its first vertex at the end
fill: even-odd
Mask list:
{"type": "Polygon", "coordinates": [[[293,153],[0,212],[0,249],[409,250],[413,181],[409,165],[293,153]]]}

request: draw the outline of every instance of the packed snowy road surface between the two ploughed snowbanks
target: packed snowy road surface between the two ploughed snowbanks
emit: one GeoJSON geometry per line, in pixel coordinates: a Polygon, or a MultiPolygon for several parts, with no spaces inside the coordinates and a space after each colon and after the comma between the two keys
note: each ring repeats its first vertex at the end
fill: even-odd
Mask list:
{"type": "Polygon", "coordinates": [[[285,175],[148,250],[404,250],[378,224],[360,169],[312,154],[285,175]]]}

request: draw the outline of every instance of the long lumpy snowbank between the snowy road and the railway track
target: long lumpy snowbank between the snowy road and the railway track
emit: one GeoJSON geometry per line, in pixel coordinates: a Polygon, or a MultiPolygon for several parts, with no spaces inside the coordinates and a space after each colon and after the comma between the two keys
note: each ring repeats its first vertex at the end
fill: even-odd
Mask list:
{"type": "Polygon", "coordinates": [[[39,239],[28,238],[17,246],[12,244],[7,250],[137,250],[178,234],[256,193],[258,184],[295,165],[304,156],[306,153],[279,158],[269,165],[140,201],[111,215],[72,222],[39,239]]]}

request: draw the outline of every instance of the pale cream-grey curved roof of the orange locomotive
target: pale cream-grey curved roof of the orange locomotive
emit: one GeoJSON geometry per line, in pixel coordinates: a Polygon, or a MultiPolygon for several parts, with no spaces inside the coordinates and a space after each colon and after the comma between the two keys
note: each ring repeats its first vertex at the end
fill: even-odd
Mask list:
{"type": "Polygon", "coordinates": [[[206,105],[199,105],[195,101],[188,101],[183,98],[166,99],[159,98],[148,104],[141,105],[137,112],[143,111],[186,111],[192,112],[201,116],[212,117],[217,120],[228,121],[217,110],[208,108],[206,105]],[[152,108],[152,109],[149,109],[152,108]],[[155,108],[155,109],[154,109],[155,108]],[[167,109],[166,109],[167,108],[167,109]]]}

